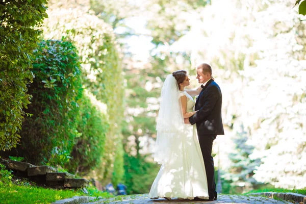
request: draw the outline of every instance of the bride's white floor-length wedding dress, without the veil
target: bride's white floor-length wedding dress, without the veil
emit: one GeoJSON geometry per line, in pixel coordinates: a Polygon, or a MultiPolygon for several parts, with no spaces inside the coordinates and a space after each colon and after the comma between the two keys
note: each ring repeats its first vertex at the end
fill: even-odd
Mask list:
{"type": "MultiPolygon", "coordinates": [[[[186,92],[187,112],[193,112],[194,100],[186,92]]],[[[184,125],[185,135],[174,138],[171,143],[171,161],[163,164],[151,186],[150,198],[179,197],[209,199],[205,165],[198,141],[196,126],[184,125]]]]}

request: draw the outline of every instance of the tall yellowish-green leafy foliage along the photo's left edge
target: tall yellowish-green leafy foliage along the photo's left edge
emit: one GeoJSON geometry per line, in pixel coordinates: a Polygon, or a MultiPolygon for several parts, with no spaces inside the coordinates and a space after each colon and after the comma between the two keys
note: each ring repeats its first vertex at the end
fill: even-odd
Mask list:
{"type": "Polygon", "coordinates": [[[0,149],[16,147],[23,108],[30,104],[32,51],[47,16],[46,0],[0,2],[0,149]]]}

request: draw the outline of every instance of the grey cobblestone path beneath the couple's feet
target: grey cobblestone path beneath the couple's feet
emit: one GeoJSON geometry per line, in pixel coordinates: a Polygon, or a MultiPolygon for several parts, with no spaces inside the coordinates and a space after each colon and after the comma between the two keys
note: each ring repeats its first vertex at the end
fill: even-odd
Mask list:
{"type": "MultiPolygon", "coordinates": [[[[185,203],[223,203],[223,204],[230,204],[230,203],[239,203],[239,204],[246,204],[246,203],[254,203],[254,204],[284,204],[284,203],[291,203],[289,201],[282,201],[282,200],[275,200],[272,198],[261,197],[261,196],[243,196],[243,195],[218,195],[218,199],[214,201],[192,201],[188,199],[180,200],[180,199],[172,199],[170,201],[159,198],[159,199],[150,199],[148,194],[140,194],[140,195],[129,195],[129,196],[117,196],[115,198],[109,199],[100,199],[95,200],[93,202],[88,202],[86,204],[103,204],[103,203],[126,203],[126,204],[157,204],[157,203],[169,203],[169,204],[185,204],[185,203]]],[[[84,203],[85,204],[85,203],[84,203]]]]}

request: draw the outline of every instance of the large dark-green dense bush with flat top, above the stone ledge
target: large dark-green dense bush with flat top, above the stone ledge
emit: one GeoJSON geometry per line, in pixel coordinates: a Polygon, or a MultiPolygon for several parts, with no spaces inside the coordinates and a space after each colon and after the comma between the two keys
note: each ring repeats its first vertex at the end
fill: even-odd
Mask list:
{"type": "Polygon", "coordinates": [[[33,95],[22,124],[17,156],[33,163],[63,165],[78,136],[78,99],[82,96],[78,51],[69,41],[41,41],[34,52],[33,95]],[[48,83],[49,82],[49,83],[48,83]]]}

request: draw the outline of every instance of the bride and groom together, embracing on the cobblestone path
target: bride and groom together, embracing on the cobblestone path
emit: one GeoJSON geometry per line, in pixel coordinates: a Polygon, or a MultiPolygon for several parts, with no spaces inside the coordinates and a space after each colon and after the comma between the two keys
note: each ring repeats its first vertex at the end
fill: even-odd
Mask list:
{"type": "Polygon", "coordinates": [[[197,89],[187,90],[185,70],[169,74],[161,92],[154,160],[161,169],[149,197],[216,200],[213,141],[224,135],[222,94],[209,64],[196,69],[197,89]],[[193,97],[198,95],[195,105],[193,97]]]}

